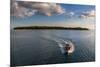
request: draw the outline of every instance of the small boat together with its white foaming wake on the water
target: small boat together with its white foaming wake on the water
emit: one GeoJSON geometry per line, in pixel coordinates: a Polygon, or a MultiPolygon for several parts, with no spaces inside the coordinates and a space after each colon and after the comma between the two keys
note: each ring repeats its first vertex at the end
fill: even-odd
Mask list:
{"type": "Polygon", "coordinates": [[[75,46],[74,43],[71,40],[64,40],[64,39],[60,39],[60,38],[54,38],[54,37],[49,37],[49,36],[45,36],[46,39],[52,40],[54,42],[56,42],[60,48],[61,53],[65,54],[67,53],[72,54],[75,50],[75,46]]]}

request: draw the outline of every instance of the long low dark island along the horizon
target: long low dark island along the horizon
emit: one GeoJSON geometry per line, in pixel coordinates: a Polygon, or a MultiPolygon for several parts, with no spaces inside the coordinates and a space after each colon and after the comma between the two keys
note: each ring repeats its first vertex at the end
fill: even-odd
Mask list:
{"type": "Polygon", "coordinates": [[[14,30],[55,29],[55,30],[89,30],[82,27],[59,27],[59,26],[23,26],[15,27],[14,30]]]}

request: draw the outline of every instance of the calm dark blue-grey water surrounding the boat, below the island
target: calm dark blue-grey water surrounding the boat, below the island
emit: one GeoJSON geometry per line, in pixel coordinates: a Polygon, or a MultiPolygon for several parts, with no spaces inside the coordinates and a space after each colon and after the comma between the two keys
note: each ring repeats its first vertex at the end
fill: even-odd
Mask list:
{"type": "Polygon", "coordinates": [[[11,65],[41,65],[95,61],[93,30],[11,30],[11,65]],[[61,52],[56,41],[71,40],[71,55],[61,52]]]}

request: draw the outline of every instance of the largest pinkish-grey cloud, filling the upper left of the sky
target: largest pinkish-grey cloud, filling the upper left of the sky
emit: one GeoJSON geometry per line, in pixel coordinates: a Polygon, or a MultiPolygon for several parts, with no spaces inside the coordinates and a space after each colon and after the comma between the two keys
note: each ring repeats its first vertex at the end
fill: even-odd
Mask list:
{"type": "Polygon", "coordinates": [[[11,15],[16,17],[32,16],[35,14],[51,16],[63,14],[65,10],[56,3],[27,2],[11,0],[11,15]]]}

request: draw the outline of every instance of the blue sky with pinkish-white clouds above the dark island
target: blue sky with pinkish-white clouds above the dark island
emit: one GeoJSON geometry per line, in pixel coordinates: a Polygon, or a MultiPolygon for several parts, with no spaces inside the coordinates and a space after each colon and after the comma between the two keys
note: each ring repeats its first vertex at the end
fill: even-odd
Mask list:
{"type": "Polygon", "coordinates": [[[46,2],[11,2],[11,27],[63,26],[95,28],[95,6],[46,2]]]}

